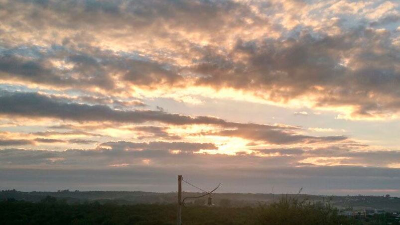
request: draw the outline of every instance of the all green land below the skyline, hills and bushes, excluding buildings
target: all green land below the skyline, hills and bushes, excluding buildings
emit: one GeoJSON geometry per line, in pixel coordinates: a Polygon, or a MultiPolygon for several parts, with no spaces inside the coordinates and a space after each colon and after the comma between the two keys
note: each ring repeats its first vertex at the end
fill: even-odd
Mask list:
{"type": "MultiPolygon", "coordinates": [[[[193,196],[196,193],[183,193],[193,196]]],[[[150,192],[0,191],[0,225],[174,225],[177,194],[150,192]]],[[[183,225],[400,225],[399,198],[216,193],[187,202],[183,225]],[[259,199],[259,201],[257,201],[259,199]],[[326,201],[329,199],[329,201],[326,201]],[[392,212],[364,219],[339,215],[353,206],[385,206],[392,212]],[[354,204],[356,203],[356,204],[354,204]]]]}

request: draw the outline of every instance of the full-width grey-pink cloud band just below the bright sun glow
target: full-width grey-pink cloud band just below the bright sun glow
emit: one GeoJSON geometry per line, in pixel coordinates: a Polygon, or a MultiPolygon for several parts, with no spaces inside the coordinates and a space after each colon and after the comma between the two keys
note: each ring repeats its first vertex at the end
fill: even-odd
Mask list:
{"type": "MultiPolygon", "coordinates": [[[[225,168],[234,165],[239,168],[263,169],[307,165],[357,165],[387,167],[400,160],[400,151],[363,150],[339,146],[325,148],[267,148],[254,149],[252,153],[236,155],[218,154],[213,143],[192,142],[131,142],[109,141],[95,149],[68,149],[64,151],[2,149],[2,166],[20,165],[36,168],[47,165],[63,168],[104,168],[115,164],[142,165],[142,160],[151,162],[152,167],[202,165],[205,168],[225,168]],[[215,149],[217,154],[194,153],[202,149],[215,149]]],[[[235,167],[235,166],[234,166],[235,167]]]]}

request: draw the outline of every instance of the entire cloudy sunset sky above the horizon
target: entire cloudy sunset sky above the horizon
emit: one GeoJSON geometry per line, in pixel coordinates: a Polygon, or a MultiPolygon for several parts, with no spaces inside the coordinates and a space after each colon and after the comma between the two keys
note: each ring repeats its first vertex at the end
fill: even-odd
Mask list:
{"type": "Polygon", "coordinates": [[[399,133],[399,1],[0,0],[0,189],[400,196],[399,133]]]}

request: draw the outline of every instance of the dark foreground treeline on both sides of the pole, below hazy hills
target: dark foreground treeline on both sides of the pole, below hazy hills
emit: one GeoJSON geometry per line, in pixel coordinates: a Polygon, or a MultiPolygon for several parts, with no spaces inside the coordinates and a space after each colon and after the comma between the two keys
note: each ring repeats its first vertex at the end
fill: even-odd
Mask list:
{"type": "MultiPolygon", "coordinates": [[[[67,204],[47,196],[38,203],[7,199],[0,202],[4,225],[173,225],[176,205],[116,205],[98,202],[67,204]]],[[[182,210],[183,225],[350,225],[361,224],[337,214],[327,203],[295,198],[258,207],[206,207],[182,210]]]]}

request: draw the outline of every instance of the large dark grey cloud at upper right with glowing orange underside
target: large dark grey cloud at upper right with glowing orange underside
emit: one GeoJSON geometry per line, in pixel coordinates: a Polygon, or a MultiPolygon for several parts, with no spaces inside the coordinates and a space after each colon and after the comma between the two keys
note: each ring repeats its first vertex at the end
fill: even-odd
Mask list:
{"type": "Polygon", "coordinates": [[[400,56],[388,38],[373,29],[357,28],[319,38],[306,32],[282,42],[238,41],[232,56],[204,58],[194,69],[204,75],[198,85],[266,90],[263,96],[278,103],[307,96],[312,107],[338,111],[350,107],[344,112],[349,118],[380,117],[399,111],[395,84],[400,75],[394,65],[400,56]],[[363,48],[364,44],[371,48],[363,48]],[[235,54],[246,55],[246,67],[234,63],[235,54]]]}

